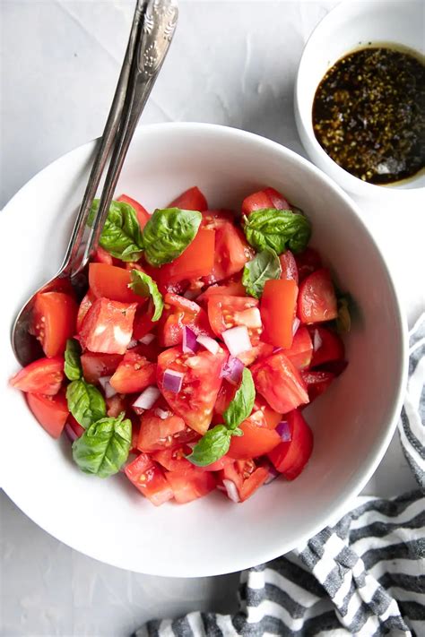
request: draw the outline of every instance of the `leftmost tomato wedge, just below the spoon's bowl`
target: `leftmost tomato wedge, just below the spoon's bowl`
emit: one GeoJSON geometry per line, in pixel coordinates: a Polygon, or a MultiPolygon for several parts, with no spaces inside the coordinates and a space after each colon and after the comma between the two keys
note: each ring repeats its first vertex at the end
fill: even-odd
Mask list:
{"type": "Polygon", "coordinates": [[[39,358],[11,378],[9,383],[21,392],[54,396],[64,380],[64,358],[39,358]]]}

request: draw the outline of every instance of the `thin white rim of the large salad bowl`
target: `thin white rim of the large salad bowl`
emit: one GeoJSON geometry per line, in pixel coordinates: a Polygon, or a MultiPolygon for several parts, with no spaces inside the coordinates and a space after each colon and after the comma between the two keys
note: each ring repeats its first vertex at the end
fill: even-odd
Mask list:
{"type": "MultiPolygon", "coordinates": [[[[364,486],[366,486],[366,484],[369,482],[369,479],[372,477],[372,475],[376,471],[380,461],[382,461],[382,458],[384,457],[386,450],[388,448],[388,445],[391,442],[391,439],[394,435],[395,426],[397,425],[398,417],[400,416],[400,411],[401,411],[402,402],[403,402],[404,388],[407,382],[407,351],[408,351],[407,349],[407,344],[408,344],[407,320],[406,320],[405,313],[403,311],[403,307],[401,306],[400,297],[398,295],[397,289],[395,288],[395,281],[393,280],[391,271],[388,268],[386,259],[384,255],[382,254],[382,251],[380,250],[379,246],[377,245],[377,241],[375,240],[375,238],[369,231],[369,228],[363,221],[357,205],[351,200],[351,197],[343,191],[343,188],[340,185],[336,184],[330,176],[325,174],[324,171],[317,168],[317,166],[315,166],[312,162],[308,161],[308,159],[301,157],[295,151],[291,151],[290,149],[288,149],[285,146],[282,146],[282,144],[278,142],[273,142],[272,140],[262,137],[261,135],[258,135],[256,133],[250,133],[247,131],[243,131],[241,129],[237,129],[237,128],[233,128],[233,127],[225,126],[225,125],[204,124],[199,122],[167,122],[167,123],[160,123],[160,124],[139,125],[135,132],[135,135],[155,134],[157,132],[165,134],[167,131],[172,131],[172,130],[178,130],[181,132],[186,131],[187,133],[202,131],[203,133],[207,133],[210,135],[214,135],[218,133],[221,135],[227,135],[228,137],[232,138],[234,141],[247,140],[257,144],[258,143],[262,144],[263,146],[265,146],[266,149],[268,148],[271,151],[277,151],[281,153],[282,156],[292,161],[295,161],[301,167],[307,168],[308,171],[312,171],[314,174],[317,175],[317,177],[325,185],[325,187],[330,188],[332,191],[334,191],[334,194],[343,200],[343,202],[350,209],[354,217],[357,218],[357,221],[360,224],[360,227],[362,228],[363,232],[366,233],[366,235],[369,237],[369,241],[374,246],[381,260],[381,263],[383,265],[383,270],[386,274],[388,288],[390,289],[392,297],[394,299],[395,315],[397,319],[398,330],[400,332],[400,350],[402,355],[401,367],[400,367],[399,375],[398,375],[398,389],[397,389],[397,392],[395,393],[395,396],[392,397],[392,409],[389,411],[389,416],[387,419],[386,426],[383,427],[382,431],[380,432],[380,443],[378,444],[377,451],[373,454],[373,456],[370,457],[368,469],[363,473],[363,475],[360,478],[356,474],[354,478],[351,477],[347,481],[344,495],[340,495],[336,499],[336,502],[334,504],[332,511],[327,512],[321,521],[318,521],[316,523],[314,522],[311,523],[308,531],[306,531],[302,535],[299,535],[299,537],[294,539],[293,542],[286,543],[284,547],[282,546],[282,544],[279,544],[278,541],[275,544],[273,544],[273,546],[271,547],[264,547],[263,550],[257,552],[256,560],[254,564],[252,563],[252,557],[250,557],[247,560],[247,558],[243,557],[243,552],[241,552],[240,555],[235,555],[235,559],[232,562],[230,568],[224,571],[222,569],[220,569],[220,571],[213,571],[213,565],[211,568],[211,566],[209,567],[206,563],[203,565],[200,565],[200,568],[196,568],[196,569],[191,568],[187,572],[173,571],[172,565],[170,565],[170,567],[169,565],[167,567],[164,565],[162,568],[159,567],[159,568],[155,568],[154,570],[152,569],[142,570],[142,569],[134,568],[134,564],[133,565],[119,564],[119,561],[115,560],[110,555],[108,556],[108,558],[105,558],[105,555],[100,555],[102,551],[100,551],[99,554],[97,554],[96,552],[87,553],[84,549],[78,546],[78,542],[74,543],[69,538],[66,538],[66,540],[56,538],[56,536],[54,535],[54,532],[48,530],[50,526],[48,521],[43,521],[42,519],[39,518],[39,515],[37,514],[32,513],[30,515],[28,512],[24,510],[24,508],[21,508],[21,505],[15,502],[15,500],[13,499],[13,482],[8,484],[6,476],[5,475],[2,476],[3,484],[0,486],[3,487],[4,493],[12,499],[13,503],[16,506],[18,506],[18,508],[20,508],[22,512],[24,512],[25,515],[27,515],[27,517],[30,518],[30,520],[34,521],[41,529],[48,532],[49,535],[52,535],[52,537],[59,539],[59,541],[63,542],[66,546],[69,546],[73,548],[74,550],[81,552],[83,555],[88,555],[91,558],[102,562],[103,564],[110,564],[112,566],[116,566],[117,568],[122,568],[122,569],[133,571],[133,572],[141,572],[143,574],[165,576],[165,577],[187,577],[187,578],[209,577],[209,576],[220,575],[220,574],[225,574],[229,572],[238,572],[243,569],[249,568],[250,566],[253,566],[255,564],[262,564],[265,562],[269,562],[270,560],[273,560],[276,557],[282,555],[283,552],[288,553],[296,547],[301,547],[307,544],[308,539],[315,536],[320,530],[325,529],[325,527],[328,526],[329,524],[333,524],[336,521],[340,520],[343,517],[343,514],[349,510],[352,500],[357,495],[360,494],[364,486]]],[[[9,209],[12,209],[13,205],[11,204],[13,204],[14,198],[17,197],[18,194],[21,194],[22,191],[27,186],[29,186],[30,183],[33,180],[35,180],[41,172],[48,170],[48,168],[52,166],[53,164],[55,164],[56,161],[60,161],[61,159],[65,158],[65,156],[68,156],[74,152],[75,154],[77,154],[78,152],[81,152],[84,147],[86,147],[87,150],[89,150],[90,147],[94,148],[95,142],[96,140],[91,140],[91,142],[86,142],[84,144],[81,144],[75,147],[72,151],[69,151],[65,153],[64,155],[62,155],[61,157],[50,162],[48,166],[46,166],[45,168],[42,168],[41,170],[39,170],[39,172],[33,177],[31,177],[31,179],[28,182],[26,182],[25,185],[22,185],[22,188],[20,188],[20,190],[13,195],[12,199],[6,204],[6,206],[4,206],[4,213],[7,213],[9,209]]],[[[9,388],[7,388],[6,391],[9,391],[9,388]]]]}

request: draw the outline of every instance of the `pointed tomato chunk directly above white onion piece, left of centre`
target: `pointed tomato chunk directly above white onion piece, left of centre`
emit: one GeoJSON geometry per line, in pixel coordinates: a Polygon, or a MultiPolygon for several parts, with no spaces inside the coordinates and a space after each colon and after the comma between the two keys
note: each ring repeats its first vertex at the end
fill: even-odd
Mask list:
{"type": "Polygon", "coordinates": [[[156,382],[155,363],[150,363],[136,350],[138,348],[126,352],[109,381],[118,393],[142,392],[156,382]]]}

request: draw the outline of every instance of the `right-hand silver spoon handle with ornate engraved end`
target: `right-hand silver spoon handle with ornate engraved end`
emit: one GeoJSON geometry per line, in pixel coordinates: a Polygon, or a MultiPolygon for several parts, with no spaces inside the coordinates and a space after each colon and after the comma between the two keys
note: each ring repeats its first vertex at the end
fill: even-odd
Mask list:
{"type": "Polygon", "coordinates": [[[126,159],[134,130],[151,93],[169,50],[178,21],[178,6],[175,0],[148,0],[145,3],[138,26],[134,55],[120,118],[117,137],[105,178],[97,214],[91,224],[91,232],[85,246],[82,260],[72,271],[72,276],[82,271],[96,250],[101,229],[108,215],[121,169],[126,159]]]}

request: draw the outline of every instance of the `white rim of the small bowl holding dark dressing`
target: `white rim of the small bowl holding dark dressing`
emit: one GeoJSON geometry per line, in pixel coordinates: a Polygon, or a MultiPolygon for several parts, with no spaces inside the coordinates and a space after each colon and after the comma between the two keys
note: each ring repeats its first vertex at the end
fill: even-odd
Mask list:
{"type": "MultiPolygon", "coordinates": [[[[410,4],[418,4],[414,0],[408,0],[410,4]]],[[[325,41],[322,35],[322,31],[325,30],[328,26],[329,22],[332,22],[335,16],[351,13],[369,13],[371,11],[375,11],[377,7],[381,11],[388,10],[389,7],[394,8],[395,5],[403,6],[403,0],[369,0],[368,3],[355,3],[351,4],[347,0],[342,0],[339,4],[336,4],[325,16],[317,23],[316,27],[311,31],[308,36],[307,42],[303,48],[301,57],[299,59],[299,67],[297,71],[297,77],[295,80],[295,89],[294,89],[294,110],[295,110],[295,119],[297,128],[299,131],[299,137],[301,138],[301,142],[308,153],[308,156],[314,163],[316,161],[321,161],[325,168],[323,168],[328,176],[332,179],[338,181],[338,185],[343,184],[344,187],[349,190],[351,193],[356,193],[359,191],[359,194],[363,196],[377,197],[378,195],[387,196],[390,194],[395,197],[407,197],[412,193],[425,193],[425,186],[411,186],[408,188],[397,187],[395,185],[377,185],[370,184],[369,182],[362,181],[359,177],[351,175],[348,170],[341,168],[338,166],[336,161],[332,159],[327,152],[322,148],[322,146],[317,141],[317,137],[313,131],[313,125],[311,122],[311,117],[309,117],[306,121],[306,117],[302,114],[302,109],[300,108],[301,104],[301,83],[304,81],[304,77],[308,76],[308,65],[307,65],[307,57],[310,55],[310,51],[317,47],[317,44],[320,43],[323,46],[323,42],[325,41]],[[311,147],[311,150],[308,148],[307,143],[311,147]],[[313,157],[313,153],[318,155],[318,159],[313,157]]],[[[354,48],[347,48],[345,54],[349,54],[354,48]]],[[[331,68],[332,65],[342,56],[339,56],[328,68],[331,68]]],[[[314,99],[314,98],[313,98],[314,99]]],[[[313,106],[313,102],[311,102],[311,107],[313,106]]],[[[309,112],[311,108],[309,108],[309,112]]],[[[421,172],[421,171],[420,171],[421,172]]],[[[411,177],[414,180],[414,176],[411,177]]],[[[403,180],[402,180],[403,181],[403,180]]]]}

